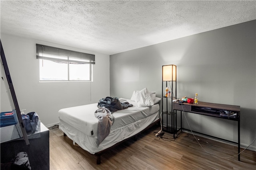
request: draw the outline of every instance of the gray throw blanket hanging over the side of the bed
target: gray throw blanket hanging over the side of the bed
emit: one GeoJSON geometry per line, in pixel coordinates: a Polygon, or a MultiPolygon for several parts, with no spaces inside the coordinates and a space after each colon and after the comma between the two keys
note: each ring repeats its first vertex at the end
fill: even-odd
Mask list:
{"type": "Polygon", "coordinates": [[[112,113],[106,107],[99,107],[94,112],[95,117],[98,119],[98,139],[97,147],[109,135],[110,128],[114,122],[112,113]]]}

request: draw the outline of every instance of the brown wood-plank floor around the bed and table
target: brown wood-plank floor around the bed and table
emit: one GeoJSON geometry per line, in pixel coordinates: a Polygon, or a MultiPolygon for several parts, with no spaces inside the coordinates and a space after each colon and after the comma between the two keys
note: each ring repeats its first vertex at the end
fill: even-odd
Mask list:
{"type": "MultiPolygon", "coordinates": [[[[256,170],[256,152],[245,150],[237,154],[237,147],[210,139],[180,133],[174,141],[171,134],[165,133],[159,139],[154,126],[138,135],[137,141],[128,140],[101,156],[101,164],[96,164],[96,156],[73,145],[64,137],[61,130],[50,130],[50,169],[51,170],[256,170]],[[188,136],[188,137],[185,137],[188,136]]],[[[241,149],[242,151],[243,149],[241,149]]]]}

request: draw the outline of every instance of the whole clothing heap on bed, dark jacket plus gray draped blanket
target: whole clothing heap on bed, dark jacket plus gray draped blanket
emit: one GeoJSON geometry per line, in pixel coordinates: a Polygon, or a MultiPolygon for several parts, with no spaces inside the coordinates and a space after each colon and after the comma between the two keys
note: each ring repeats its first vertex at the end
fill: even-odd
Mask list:
{"type": "Polygon", "coordinates": [[[106,97],[102,98],[98,102],[98,109],[94,112],[95,117],[98,119],[98,139],[97,145],[109,135],[110,128],[114,122],[113,112],[127,109],[132,107],[129,102],[121,103],[118,98],[106,97]]]}

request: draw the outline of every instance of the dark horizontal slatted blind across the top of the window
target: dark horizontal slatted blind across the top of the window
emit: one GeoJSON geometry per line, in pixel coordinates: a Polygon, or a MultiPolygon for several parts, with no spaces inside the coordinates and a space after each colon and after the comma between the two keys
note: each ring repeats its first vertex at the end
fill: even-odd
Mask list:
{"type": "Polygon", "coordinates": [[[95,55],[36,44],[36,58],[58,63],[95,64],[95,55]]]}

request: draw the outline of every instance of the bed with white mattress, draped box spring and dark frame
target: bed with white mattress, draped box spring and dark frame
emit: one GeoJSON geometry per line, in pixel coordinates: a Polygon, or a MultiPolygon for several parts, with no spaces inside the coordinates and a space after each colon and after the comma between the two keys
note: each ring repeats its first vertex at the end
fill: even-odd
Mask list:
{"type": "Polygon", "coordinates": [[[94,115],[98,109],[98,103],[59,110],[59,128],[73,143],[78,144],[91,154],[95,154],[97,164],[100,164],[100,156],[106,150],[136,137],[138,133],[160,121],[158,104],[160,98],[156,98],[150,107],[142,107],[138,101],[129,99],[120,98],[120,101],[128,102],[133,106],[112,113],[114,122],[110,133],[99,146],[97,146],[98,119],[94,115]]]}

